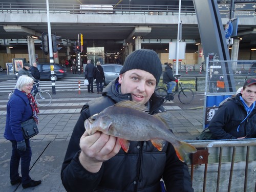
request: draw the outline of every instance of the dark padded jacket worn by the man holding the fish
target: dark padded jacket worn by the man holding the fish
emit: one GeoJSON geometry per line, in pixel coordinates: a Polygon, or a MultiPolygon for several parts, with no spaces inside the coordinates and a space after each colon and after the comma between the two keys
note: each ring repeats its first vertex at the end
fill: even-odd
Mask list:
{"type": "MultiPolygon", "coordinates": [[[[84,121],[108,106],[132,98],[131,94],[119,94],[117,85],[118,78],[103,90],[103,97],[89,102],[81,112],[61,168],[66,190],[158,192],[163,178],[168,191],[194,191],[187,165],[178,159],[173,145],[167,142],[159,152],[151,141],[131,141],[128,153],[121,149],[116,156],[103,162],[98,173],[90,173],[80,164],[79,140],[85,130],[84,121]]],[[[149,102],[150,114],[165,111],[161,107],[162,98],[155,94],[149,102]]]]}

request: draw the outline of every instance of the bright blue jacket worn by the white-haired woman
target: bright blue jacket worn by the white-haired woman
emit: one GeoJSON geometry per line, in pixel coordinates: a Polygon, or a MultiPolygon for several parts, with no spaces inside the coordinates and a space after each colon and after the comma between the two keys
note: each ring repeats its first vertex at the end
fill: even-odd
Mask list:
{"type": "Polygon", "coordinates": [[[33,115],[28,97],[15,89],[7,103],[6,126],[4,137],[7,140],[24,140],[21,123],[33,115]]]}

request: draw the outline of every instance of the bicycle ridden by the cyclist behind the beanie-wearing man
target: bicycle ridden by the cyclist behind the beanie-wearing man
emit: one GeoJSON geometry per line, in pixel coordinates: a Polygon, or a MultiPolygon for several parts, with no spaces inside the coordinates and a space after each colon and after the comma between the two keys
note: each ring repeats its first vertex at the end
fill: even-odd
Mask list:
{"type": "MultiPolygon", "coordinates": [[[[164,102],[174,100],[174,96],[178,94],[178,98],[181,103],[183,104],[189,104],[194,99],[194,92],[189,88],[182,88],[181,83],[179,79],[177,79],[178,82],[176,82],[175,92],[174,93],[168,93],[167,89],[165,87],[157,87],[155,89],[155,92],[164,98],[164,102]]],[[[166,87],[167,87],[167,83],[166,87]]]]}

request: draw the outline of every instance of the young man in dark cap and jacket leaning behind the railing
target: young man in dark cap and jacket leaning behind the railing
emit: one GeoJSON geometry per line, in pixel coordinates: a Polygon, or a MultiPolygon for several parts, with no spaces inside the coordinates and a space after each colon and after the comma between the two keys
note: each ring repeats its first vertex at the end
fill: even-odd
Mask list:
{"type": "Polygon", "coordinates": [[[256,138],[256,79],[248,79],[240,93],[220,105],[208,129],[212,139],[256,138]]]}

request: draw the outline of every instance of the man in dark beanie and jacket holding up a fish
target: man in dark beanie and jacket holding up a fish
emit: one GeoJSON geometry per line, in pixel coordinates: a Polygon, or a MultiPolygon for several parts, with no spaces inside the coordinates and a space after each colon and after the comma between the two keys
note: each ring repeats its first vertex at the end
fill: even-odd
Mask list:
{"type": "Polygon", "coordinates": [[[150,141],[131,141],[125,153],[118,138],[96,132],[89,135],[84,121],[123,100],[147,106],[149,114],[166,111],[164,99],[155,94],[162,73],[161,61],[153,50],[130,54],[120,71],[102,92],[81,111],[61,168],[67,191],[194,191],[186,163],[179,160],[172,144],[165,141],[158,151],[150,141]]]}

